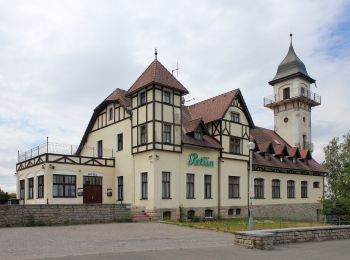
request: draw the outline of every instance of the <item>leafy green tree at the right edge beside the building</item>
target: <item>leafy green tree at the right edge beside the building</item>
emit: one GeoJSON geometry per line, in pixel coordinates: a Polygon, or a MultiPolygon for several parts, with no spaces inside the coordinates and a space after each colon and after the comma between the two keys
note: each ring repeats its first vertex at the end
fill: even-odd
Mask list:
{"type": "Polygon", "coordinates": [[[324,153],[323,166],[328,171],[324,213],[350,216],[350,132],[342,140],[333,138],[324,153]]]}

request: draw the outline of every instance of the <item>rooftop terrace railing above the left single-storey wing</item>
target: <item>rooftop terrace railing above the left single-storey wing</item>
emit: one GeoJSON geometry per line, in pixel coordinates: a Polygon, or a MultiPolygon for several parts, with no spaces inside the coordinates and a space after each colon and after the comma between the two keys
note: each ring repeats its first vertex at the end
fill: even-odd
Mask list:
{"type": "MultiPolygon", "coordinates": [[[[18,151],[18,162],[23,162],[47,153],[61,154],[61,155],[76,155],[77,150],[78,150],[78,145],[45,142],[23,153],[20,153],[18,151]]],[[[83,155],[86,157],[96,157],[96,158],[99,157],[97,154],[97,149],[95,147],[84,147],[83,155]]],[[[103,149],[102,157],[114,158],[113,149],[103,149]]]]}

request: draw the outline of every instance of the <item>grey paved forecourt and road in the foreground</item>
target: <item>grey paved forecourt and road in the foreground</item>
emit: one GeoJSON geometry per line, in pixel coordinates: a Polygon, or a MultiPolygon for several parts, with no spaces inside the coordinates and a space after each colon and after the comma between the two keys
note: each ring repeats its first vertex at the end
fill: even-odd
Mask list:
{"type": "Polygon", "coordinates": [[[251,250],[233,235],[162,223],[0,229],[0,259],[349,259],[350,240],[251,250]]]}

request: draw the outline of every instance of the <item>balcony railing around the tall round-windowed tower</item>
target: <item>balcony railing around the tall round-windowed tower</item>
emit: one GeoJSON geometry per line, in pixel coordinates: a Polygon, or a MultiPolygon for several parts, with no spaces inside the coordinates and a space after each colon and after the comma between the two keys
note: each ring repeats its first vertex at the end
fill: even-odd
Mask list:
{"type": "Polygon", "coordinates": [[[294,99],[294,98],[305,98],[309,101],[311,101],[314,105],[320,105],[321,104],[321,96],[312,92],[308,91],[305,88],[298,88],[296,89],[296,92],[292,92],[289,96],[283,97],[277,96],[277,95],[272,95],[269,97],[264,97],[264,106],[270,106],[274,103],[278,103],[284,100],[289,100],[289,99],[294,99]]]}

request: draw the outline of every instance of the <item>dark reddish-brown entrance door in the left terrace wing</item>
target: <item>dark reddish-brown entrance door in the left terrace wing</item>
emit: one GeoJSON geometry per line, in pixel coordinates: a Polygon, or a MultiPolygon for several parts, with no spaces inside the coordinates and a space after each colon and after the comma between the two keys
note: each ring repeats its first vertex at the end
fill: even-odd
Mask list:
{"type": "Polygon", "coordinates": [[[84,176],[84,203],[102,203],[102,177],[84,176]]]}

